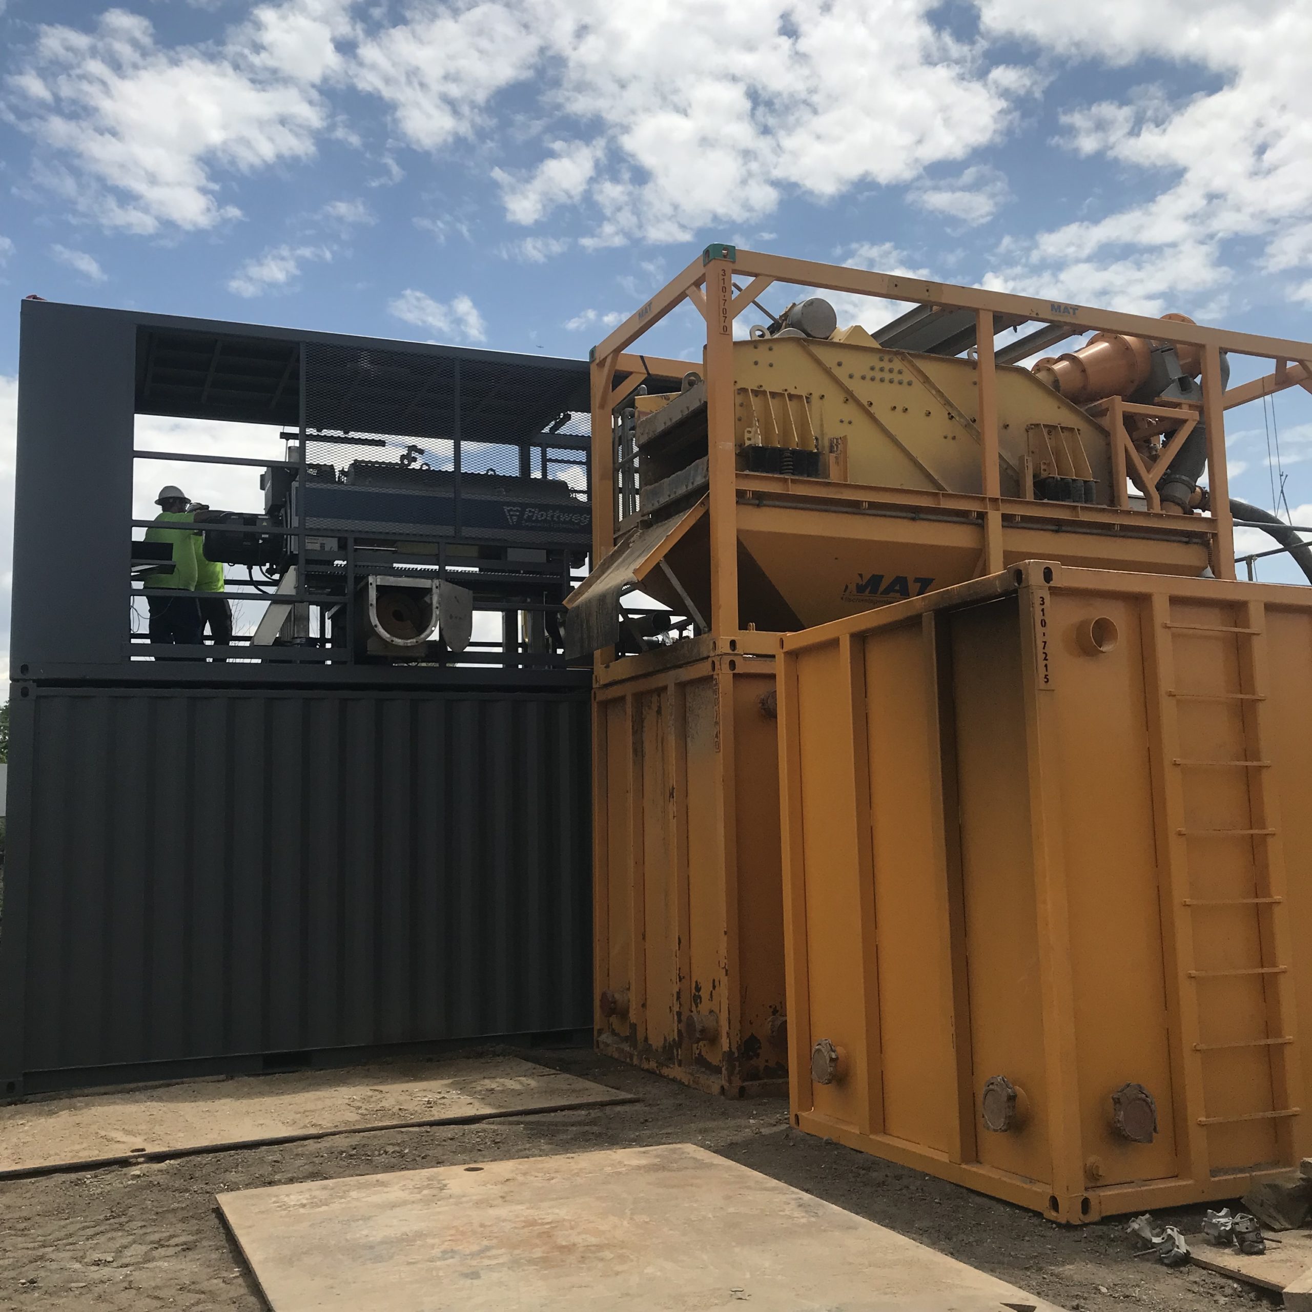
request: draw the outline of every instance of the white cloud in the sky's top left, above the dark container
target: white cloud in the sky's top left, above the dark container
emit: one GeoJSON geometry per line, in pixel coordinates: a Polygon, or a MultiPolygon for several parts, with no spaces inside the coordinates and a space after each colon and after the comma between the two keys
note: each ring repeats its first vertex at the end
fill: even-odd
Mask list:
{"type": "Polygon", "coordinates": [[[260,5],[216,50],[164,49],[122,9],[92,31],[45,26],[9,80],[10,112],[39,143],[38,176],[88,218],[211,228],[240,213],[219,174],[314,154],[327,122],[315,87],[340,64],[350,4],[260,5]]]}

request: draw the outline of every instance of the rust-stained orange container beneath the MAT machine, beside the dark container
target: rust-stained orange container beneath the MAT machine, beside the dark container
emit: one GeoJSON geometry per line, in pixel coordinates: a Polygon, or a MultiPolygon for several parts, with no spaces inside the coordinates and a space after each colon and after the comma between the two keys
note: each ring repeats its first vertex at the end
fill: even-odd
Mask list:
{"type": "Polygon", "coordinates": [[[735,1096],[786,1056],[774,657],[743,642],[617,661],[593,715],[597,1047],[735,1096]]]}

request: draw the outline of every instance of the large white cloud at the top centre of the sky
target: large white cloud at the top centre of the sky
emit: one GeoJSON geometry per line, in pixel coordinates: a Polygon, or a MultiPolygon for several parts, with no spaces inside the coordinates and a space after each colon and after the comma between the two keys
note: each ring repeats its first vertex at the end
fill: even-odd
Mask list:
{"type": "Polygon", "coordinates": [[[597,215],[585,244],[681,241],[768,214],[786,193],[908,182],[996,139],[1012,101],[1038,81],[985,73],[974,47],[933,24],[934,8],[426,3],[362,42],[356,80],[421,150],[471,134],[500,92],[531,83],[547,154],[493,173],[508,216],[534,223],[583,201],[597,215]]]}

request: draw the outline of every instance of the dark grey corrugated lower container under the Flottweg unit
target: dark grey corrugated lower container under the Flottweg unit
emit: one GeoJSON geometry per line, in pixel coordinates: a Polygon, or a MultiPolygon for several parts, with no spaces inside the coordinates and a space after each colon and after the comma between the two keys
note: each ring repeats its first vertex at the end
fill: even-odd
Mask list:
{"type": "Polygon", "coordinates": [[[589,1023],[586,693],[14,694],[0,1080],[589,1023]]]}

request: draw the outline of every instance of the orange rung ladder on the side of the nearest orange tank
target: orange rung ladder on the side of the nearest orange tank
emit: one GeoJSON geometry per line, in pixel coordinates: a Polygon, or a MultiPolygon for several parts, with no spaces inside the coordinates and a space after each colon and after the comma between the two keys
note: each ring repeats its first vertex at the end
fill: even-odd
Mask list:
{"type": "MultiPolygon", "coordinates": [[[[1164,690],[1161,748],[1165,756],[1166,825],[1169,828],[1170,880],[1176,914],[1176,967],[1185,1040],[1185,1084],[1189,1126],[1185,1130],[1195,1172],[1215,1172],[1215,1131],[1241,1123],[1271,1123],[1275,1162],[1292,1165],[1295,1118],[1302,1114],[1302,1071],[1294,1021],[1294,980],[1290,972],[1292,946],[1284,899],[1284,855],[1281,845],[1275,789],[1269,782],[1270,707],[1266,617],[1261,602],[1236,602],[1225,607],[1236,621],[1191,623],[1173,618],[1165,597],[1153,600],[1153,628],[1158,687],[1164,690]],[[1186,644],[1221,643],[1212,659],[1190,660],[1186,644]],[[1235,656],[1231,657],[1229,652],[1235,656]],[[1233,659],[1235,664],[1231,665],[1233,659]],[[1186,672],[1182,666],[1189,666],[1186,672]],[[1204,677],[1199,678],[1199,670],[1204,677]],[[1237,673],[1237,680],[1233,674],[1237,673]],[[1229,714],[1224,707],[1229,707],[1229,714]],[[1211,729],[1210,733],[1202,732],[1211,729]],[[1182,748],[1194,736],[1220,740],[1225,750],[1216,758],[1190,757],[1182,748]],[[1207,800],[1228,800],[1231,820],[1202,819],[1207,800]],[[1242,816],[1245,823],[1235,823],[1242,816]],[[1225,871],[1228,870],[1228,879],[1225,871]],[[1219,874],[1219,871],[1221,874],[1219,874]],[[1231,887],[1200,892],[1203,876],[1231,887]],[[1221,896],[1210,893],[1221,892],[1221,896]],[[1207,921],[1203,921],[1207,917],[1207,921]],[[1256,938],[1253,964],[1229,966],[1218,959],[1221,935],[1256,938]],[[1208,946],[1211,943],[1211,947],[1208,946]],[[1254,977],[1261,980],[1262,1018],[1250,1033],[1231,1034],[1204,1042],[1208,1008],[1236,1002],[1233,991],[1254,977]],[[1225,997],[1225,991],[1232,991],[1225,997]],[[1225,1111],[1208,1111],[1223,1099],[1219,1084],[1225,1078],[1218,1067],[1223,1054],[1265,1050],[1270,1073],[1270,1098],[1265,1080],[1253,1092],[1249,1107],[1237,1110],[1233,1093],[1225,1111]]],[[[1216,607],[1206,611],[1208,621],[1216,607]]],[[[1224,806],[1221,811],[1227,810],[1224,806]]],[[[1241,1005],[1241,1000],[1237,1000],[1241,1005]]],[[[1254,1072],[1258,1064],[1254,1063],[1254,1072]]],[[[1235,1080],[1231,1067],[1229,1080],[1235,1080]]],[[[1253,1127],[1256,1128],[1256,1126],[1253,1127]]],[[[1223,1157],[1231,1153],[1223,1152],[1223,1157]]],[[[1270,1165],[1266,1161],[1224,1162],[1220,1169],[1270,1165]]]]}

